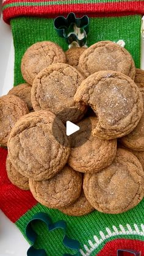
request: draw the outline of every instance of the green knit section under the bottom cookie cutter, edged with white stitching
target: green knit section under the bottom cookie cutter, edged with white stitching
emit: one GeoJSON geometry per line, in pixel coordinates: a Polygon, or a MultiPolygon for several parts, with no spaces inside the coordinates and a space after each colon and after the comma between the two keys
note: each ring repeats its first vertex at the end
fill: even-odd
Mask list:
{"type": "MultiPolygon", "coordinates": [[[[60,213],[59,210],[48,209],[38,203],[16,222],[16,225],[23,234],[27,222],[29,222],[32,216],[39,211],[48,213],[53,222],[59,221],[60,219],[65,220],[68,225],[67,235],[70,236],[70,238],[80,241],[81,250],[84,253],[86,253],[84,244],[86,244],[88,249],[90,249],[88,241],[92,241],[92,243],[95,244],[96,241],[93,236],[96,236],[98,240],[101,241],[101,235],[99,232],[103,232],[104,236],[106,236],[109,234],[109,231],[107,231],[106,228],[109,228],[110,232],[114,232],[114,225],[118,230],[118,235],[116,232],[115,234],[113,233],[112,236],[108,235],[109,237],[106,237],[105,240],[103,239],[104,241],[102,240],[99,246],[97,246],[96,249],[93,250],[92,254],[90,254],[93,256],[103,248],[107,241],[112,241],[113,239],[123,237],[144,241],[144,200],[142,200],[137,207],[123,214],[103,214],[98,211],[93,211],[93,213],[81,217],[70,217],[60,213]],[[135,223],[137,224],[136,227],[135,223]],[[128,229],[127,224],[129,224],[130,229],[128,229]],[[122,229],[124,228],[125,234],[124,232],[123,234],[121,233],[120,225],[122,225],[122,229]],[[127,234],[129,230],[130,232],[127,234]]],[[[62,256],[64,252],[70,252],[62,245],[63,235],[61,230],[55,230],[50,233],[46,229],[45,225],[40,223],[37,224],[37,227],[35,226],[35,230],[37,230],[38,233],[36,247],[45,248],[48,255],[62,256]],[[43,232],[41,232],[41,230],[43,230],[43,232]]]]}

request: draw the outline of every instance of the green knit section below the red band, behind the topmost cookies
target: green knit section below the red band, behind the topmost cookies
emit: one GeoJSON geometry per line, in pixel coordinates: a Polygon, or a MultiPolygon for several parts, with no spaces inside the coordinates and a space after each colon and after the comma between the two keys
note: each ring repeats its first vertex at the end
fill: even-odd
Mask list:
{"type": "MultiPolygon", "coordinates": [[[[134,58],[135,65],[140,67],[141,18],[140,15],[90,18],[88,46],[101,40],[117,42],[123,39],[126,43],[126,49],[134,58]]],[[[10,23],[15,46],[15,85],[24,82],[20,71],[21,58],[26,49],[33,43],[51,40],[62,46],[64,50],[68,49],[65,40],[57,35],[52,19],[19,17],[12,19],[10,23]]]]}

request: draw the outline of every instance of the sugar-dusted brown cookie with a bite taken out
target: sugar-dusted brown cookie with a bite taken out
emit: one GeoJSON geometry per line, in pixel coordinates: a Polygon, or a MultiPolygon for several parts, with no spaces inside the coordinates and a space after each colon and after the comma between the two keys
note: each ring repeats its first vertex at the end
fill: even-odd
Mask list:
{"type": "Polygon", "coordinates": [[[82,81],[74,96],[89,105],[98,123],[93,135],[122,137],[134,130],[143,114],[142,93],[134,81],[116,71],[99,71],[82,81]]]}

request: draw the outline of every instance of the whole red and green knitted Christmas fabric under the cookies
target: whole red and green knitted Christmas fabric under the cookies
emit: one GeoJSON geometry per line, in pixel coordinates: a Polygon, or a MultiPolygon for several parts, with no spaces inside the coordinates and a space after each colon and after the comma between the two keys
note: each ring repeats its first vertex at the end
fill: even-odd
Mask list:
{"type": "MultiPolygon", "coordinates": [[[[143,1],[79,0],[79,1],[23,1],[8,0],[3,3],[4,20],[12,26],[15,46],[15,81],[23,82],[20,64],[24,51],[33,43],[51,40],[64,50],[68,45],[58,37],[53,26],[53,17],[75,12],[90,16],[90,32],[87,45],[100,40],[117,42],[122,39],[125,48],[132,54],[135,65],[140,67],[140,27],[141,14],[144,13],[143,1]],[[115,15],[115,16],[113,16],[115,15]],[[45,17],[44,17],[45,16],[45,17]],[[49,18],[48,18],[49,17],[49,18]],[[52,17],[52,18],[50,18],[52,17]]],[[[137,207],[123,214],[103,214],[98,211],[87,216],[71,217],[59,210],[53,210],[37,203],[31,192],[22,191],[10,183],[5,170],[7,150],[0,148],[0,208],[15,222],[25,236],[26,224],[39,211],[48,213],[52,221],[67,221],[67,235],[79,240],[81,255],[116,256],[117,249],[144,248],[144,200],[137,207]]],[[[48,232],[45,225],[37,224],[37,247],[46,249],[50,256],[72,253],[62,244],[60,230],[48,232]]]]}

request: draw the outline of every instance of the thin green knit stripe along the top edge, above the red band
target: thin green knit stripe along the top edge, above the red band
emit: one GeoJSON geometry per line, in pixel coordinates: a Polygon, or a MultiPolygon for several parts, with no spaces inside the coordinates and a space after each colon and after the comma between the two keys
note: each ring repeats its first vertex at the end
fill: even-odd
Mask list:
{"type": "MultiPolygon", "coordinates": [[[[135,0],[135,2],[140,0],[135,0]]],[[[43,2],[12,2],[10,4],[5,4],[2,7],[2,10],[13,6],[47,6],[47,5],[62,5],[62,4],[98,4],[98,3],[107,3],[107,2],[131,2],[131,0],[71,0],[71,1],[43,1],[43,2]]]]}

